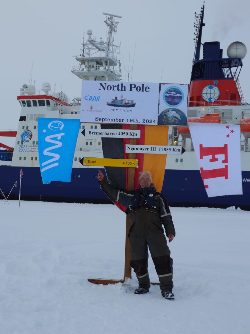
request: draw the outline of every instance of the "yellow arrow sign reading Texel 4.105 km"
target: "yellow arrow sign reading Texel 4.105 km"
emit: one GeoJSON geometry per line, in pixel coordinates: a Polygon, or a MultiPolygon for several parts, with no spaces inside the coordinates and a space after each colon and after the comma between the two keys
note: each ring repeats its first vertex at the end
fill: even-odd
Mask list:
{"type": "Polygon", "coordinates": [[[82,158],[83,166],[133,167],[138,168],[138,159],[82,158]]]}

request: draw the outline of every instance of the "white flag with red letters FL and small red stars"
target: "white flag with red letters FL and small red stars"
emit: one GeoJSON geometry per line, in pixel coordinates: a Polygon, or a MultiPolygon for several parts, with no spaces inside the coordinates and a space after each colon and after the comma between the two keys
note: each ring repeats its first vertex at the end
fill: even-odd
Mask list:
{"type": "Polygon", "coordinates": [[[242,195],[240,126],[188,123],[208,197],[242,195]]]}

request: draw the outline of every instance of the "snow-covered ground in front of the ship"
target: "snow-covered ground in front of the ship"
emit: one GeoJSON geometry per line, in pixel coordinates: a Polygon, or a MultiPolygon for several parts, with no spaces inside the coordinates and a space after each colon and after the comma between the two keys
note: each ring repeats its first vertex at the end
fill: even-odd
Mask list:
{"type": "MultiPolygon", "coordinates": [[[[250,212],[171,208],[176,299],[123,279],[125,214],[114,205],[0,200],[3,334],[249,334],[250,212]]],[[[150,258],[151,282],[158,278],[150,258]]]]}

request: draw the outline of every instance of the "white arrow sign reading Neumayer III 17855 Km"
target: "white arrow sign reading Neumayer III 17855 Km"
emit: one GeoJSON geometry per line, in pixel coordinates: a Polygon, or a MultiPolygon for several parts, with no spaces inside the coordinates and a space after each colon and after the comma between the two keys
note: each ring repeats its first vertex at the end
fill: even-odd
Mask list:
{"type": "Polygon", "coordinates": [[[185,152],[182,146],[161,146],[161,145],[129,145],[126,144],[126,153],[143,154],[182,154],[185,152]]]}

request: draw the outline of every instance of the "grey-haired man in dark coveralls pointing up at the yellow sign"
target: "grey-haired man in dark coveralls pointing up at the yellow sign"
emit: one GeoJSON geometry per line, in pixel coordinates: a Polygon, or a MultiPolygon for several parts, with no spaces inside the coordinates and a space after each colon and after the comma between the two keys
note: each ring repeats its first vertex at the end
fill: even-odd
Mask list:
{"type": "Polygon", "coordinates": [[[130,266],[136,273],[139,287],[135,294],[149,292],[150,280],[148,275],[148,248],[160,281],[161,294],[166,299],[174,299],[173,289],[173,260],[167,246],[175,237],[175,229],[170,209],[165,197],[156,191],[152,175],[143,171],[139,177],[139,189],[121,191],[113,188],[103,173],[98,170],[97,178],[101,189],[113,201],[124,205],[130,217],[128,233],[130,241],[130,266]]]}

